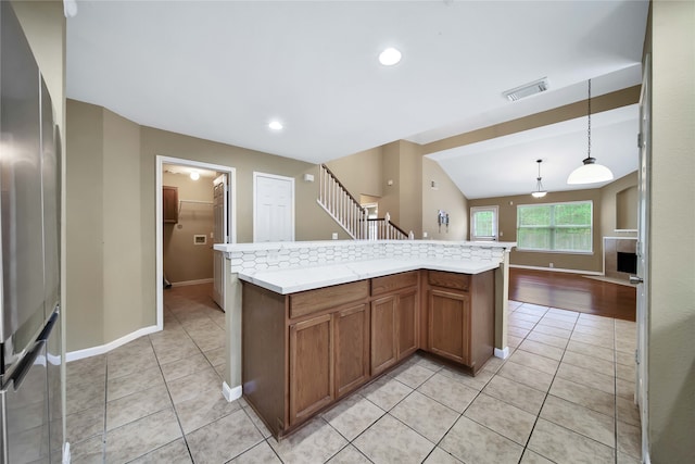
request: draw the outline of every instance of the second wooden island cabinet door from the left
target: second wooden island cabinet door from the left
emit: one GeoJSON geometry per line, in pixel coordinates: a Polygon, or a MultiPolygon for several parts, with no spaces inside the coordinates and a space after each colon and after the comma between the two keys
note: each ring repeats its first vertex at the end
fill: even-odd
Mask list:
{"type": "Polygon", "coordinates": [[[333,316],[336,334],[336,397],[369,379],[369,305],[363,303],[333,316]]]}

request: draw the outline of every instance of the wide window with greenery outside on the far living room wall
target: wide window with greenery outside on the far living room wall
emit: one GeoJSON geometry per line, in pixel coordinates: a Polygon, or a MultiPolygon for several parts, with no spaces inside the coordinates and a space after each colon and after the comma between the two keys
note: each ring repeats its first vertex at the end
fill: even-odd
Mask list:
{"type": "Polygon", "coordinates": [[[517,248],[532,251],[592,252],[591,201],[517,206],[517,248]]]}

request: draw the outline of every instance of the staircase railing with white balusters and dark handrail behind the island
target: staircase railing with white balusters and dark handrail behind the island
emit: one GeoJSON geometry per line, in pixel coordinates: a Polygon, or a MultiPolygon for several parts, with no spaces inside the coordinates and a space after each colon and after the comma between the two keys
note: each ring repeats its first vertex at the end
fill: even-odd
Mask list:
{"type": "Polygon", "coordinates": [[[370,220],[367,210],[350,195],[336,175],[319,166],[318,204],[355,240],[407,240],[408,235],[387,217],[370,220]]]}

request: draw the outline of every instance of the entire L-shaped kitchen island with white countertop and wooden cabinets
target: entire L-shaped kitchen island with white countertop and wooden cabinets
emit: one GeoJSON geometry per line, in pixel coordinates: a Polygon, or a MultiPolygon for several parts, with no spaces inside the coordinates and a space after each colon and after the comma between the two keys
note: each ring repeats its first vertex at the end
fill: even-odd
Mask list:
{"type": "Polygon", "coordinates": [[[506,351],[511,246],[227,246],[226,381],[280,438],[417,350],[475,375],[506,351]]]}

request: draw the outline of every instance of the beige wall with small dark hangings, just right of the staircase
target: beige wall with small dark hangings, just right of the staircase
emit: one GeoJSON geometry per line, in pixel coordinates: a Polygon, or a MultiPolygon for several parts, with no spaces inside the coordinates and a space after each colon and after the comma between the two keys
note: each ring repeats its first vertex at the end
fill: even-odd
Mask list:
{"type": "MultiPolygon", "coordinates": [[[[422,231],[437,240],[468,239],[468,200],[435,161],[422,156],[422,231]],[[437,189],[431,181],[437,183],[437,189]],[[437,224],[437,212],[448,213],[448,231],[437,224]]],[[[421,237],[419,236],[416,237],[421,237]]]]}

